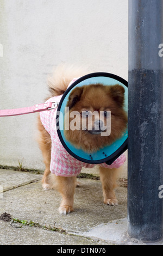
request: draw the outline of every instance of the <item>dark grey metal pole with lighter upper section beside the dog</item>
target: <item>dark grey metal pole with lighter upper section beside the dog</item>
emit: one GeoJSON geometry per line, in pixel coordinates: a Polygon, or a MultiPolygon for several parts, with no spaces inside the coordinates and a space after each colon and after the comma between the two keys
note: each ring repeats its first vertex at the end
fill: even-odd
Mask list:
{"type": "Polygon", "coordinates": [[[128,235],[155,241],[162,237],[163,1],[128,2],[128,235]]]}

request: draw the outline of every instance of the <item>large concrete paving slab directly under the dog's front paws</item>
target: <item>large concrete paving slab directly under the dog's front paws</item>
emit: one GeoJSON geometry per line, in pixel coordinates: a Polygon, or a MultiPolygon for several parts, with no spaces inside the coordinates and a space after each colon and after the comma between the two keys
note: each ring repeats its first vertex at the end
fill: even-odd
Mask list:
{"type": "Polygon", "coordinates": [[[43,191],[41,181],[4,192],[0,213],[8,212],[15,218],[46,225],[53,225],[56,222],[56,225],[76,233],[86,231],[102,222],[126,217],[126,188],[117,188],[119,205],[110,206],[103,204],[99,180],[80,179],[79,182],[80,187],[76,188],[74,195],[74,212],[66,216],[58,212],[60,193],[55,190],[43,191]]]}

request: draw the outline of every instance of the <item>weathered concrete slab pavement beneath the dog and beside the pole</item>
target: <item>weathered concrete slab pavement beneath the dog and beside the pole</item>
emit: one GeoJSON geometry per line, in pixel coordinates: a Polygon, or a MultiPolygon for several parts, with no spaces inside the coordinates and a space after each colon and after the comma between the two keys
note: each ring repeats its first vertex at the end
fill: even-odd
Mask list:
{"type": "Polygon", "coordinates": [[[41,178],[0,169],[0,245],[146,245],[127,236],[126,187],[116,188],[119,205],[110,206],[103,204],[99,180],[79,179],[74,212],[64,216],[58,213],[60,194],[43,191],[41,178]],[[9,222],[3,220],[5,212],[9,222]]]}

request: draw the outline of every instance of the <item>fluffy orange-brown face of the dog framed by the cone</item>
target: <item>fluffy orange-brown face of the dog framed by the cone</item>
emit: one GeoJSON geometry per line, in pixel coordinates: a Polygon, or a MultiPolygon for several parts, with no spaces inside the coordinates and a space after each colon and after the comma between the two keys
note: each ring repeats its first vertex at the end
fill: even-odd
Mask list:
{"type": "Polygon", "coordinates": [[[66,139],[88,153],[116,141],[127,127],[123,103],[124,88],[118,84],[74,88],[66,105],[66,139]]]}

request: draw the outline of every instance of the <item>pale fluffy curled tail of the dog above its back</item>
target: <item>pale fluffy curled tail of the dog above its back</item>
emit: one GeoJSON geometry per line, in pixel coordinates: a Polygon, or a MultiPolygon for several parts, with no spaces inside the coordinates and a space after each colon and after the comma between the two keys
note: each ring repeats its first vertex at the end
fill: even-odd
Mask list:
{"type": "Polygon", "coordinates": [[[86,75],[86,70],[73,65],[59,65],[48,78],[48,88],[51,97],[62,95],[73,78],[86,75]]]}

